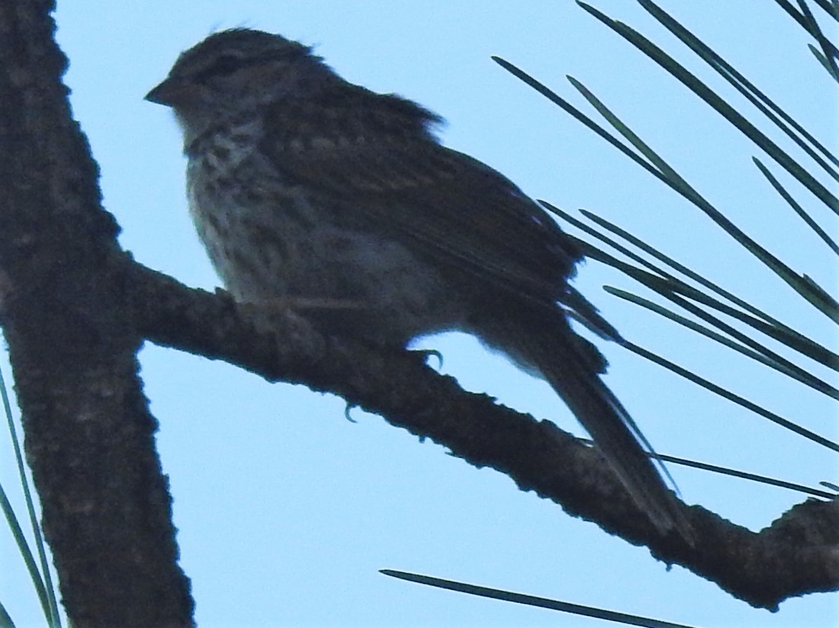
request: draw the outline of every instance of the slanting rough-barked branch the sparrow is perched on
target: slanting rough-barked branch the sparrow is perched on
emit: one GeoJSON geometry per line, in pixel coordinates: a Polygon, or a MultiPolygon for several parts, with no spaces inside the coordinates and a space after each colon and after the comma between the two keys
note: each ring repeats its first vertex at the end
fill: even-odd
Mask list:
{"type": "MultiPolygon", "coordinates": [[[[415,355],[377,353],[321,335],[294,314],[266,326],[226,293],[190,290],[134,264],[128,290],[145,338],[261,375],[341,396],[395,427],[448,447],[458,458],[508,475],[571,515],[649,547],[753,606],[774,610],[791,596],[839,586],[839,504],[808,500],[754,533],[695,505],[686,510],[696,547],[662,537],[606,461],[550,421],[536,421],[488,395],[462,390],[415,355]]],[[[559,401],[558,401],[559,403],[559,401]]],[[[685,508],[687,508],[685,506],[685,508]]]]}

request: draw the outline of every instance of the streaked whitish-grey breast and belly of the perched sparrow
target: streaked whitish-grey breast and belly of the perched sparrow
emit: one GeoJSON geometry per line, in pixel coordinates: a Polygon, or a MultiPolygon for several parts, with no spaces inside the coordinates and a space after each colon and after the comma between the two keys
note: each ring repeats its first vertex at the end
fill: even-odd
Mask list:
{"type": "Polygon", "coordinates": [[[383,345],[461,327],[461,303],[435,266],[347,222],[353,208],[331,192],[283,181],[255,144],[227,136],[190,155],[187,186],[195,228],[237,300],[328,300],[335,307],[305,313],[383,345]]]}

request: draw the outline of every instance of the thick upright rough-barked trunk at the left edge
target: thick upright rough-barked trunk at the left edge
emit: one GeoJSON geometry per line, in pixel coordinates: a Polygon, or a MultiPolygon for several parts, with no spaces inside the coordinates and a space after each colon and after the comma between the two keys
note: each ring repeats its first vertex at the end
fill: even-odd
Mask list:
{"type": "Polygon", "coordinates": [[[51,3],[0,3],[0,316],[27,460],[77,628],[190,626],[124,254],[70,118],[51,3]]]}

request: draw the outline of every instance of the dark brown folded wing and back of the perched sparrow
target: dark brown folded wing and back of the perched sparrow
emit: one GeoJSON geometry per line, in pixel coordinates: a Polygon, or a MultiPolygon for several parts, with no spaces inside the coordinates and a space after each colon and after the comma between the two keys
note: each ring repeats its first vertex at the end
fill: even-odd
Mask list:
{"type": "Polygon", "coordinates": [[[562,296],[581,257],[571,239],[503,175],[441,146],[434,114],[352,86],[267,119],[262,149],[280,176],[329,194],[343,218],[532,299],[562,296]]]}

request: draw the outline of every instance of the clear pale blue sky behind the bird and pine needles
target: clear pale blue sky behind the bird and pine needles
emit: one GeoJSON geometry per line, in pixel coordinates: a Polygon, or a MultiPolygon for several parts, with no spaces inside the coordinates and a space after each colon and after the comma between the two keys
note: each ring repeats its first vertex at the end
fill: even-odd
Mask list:
{"type": "MultiPolygon", "coordinates": [[[[774,3],[661,3],[836,149],[836,83],[811,58],[803,31],[774,3]]],[[[593,4],[709,76],[636,3],[593,4]]],[[[758,149],[570,0],[86,0],[60,3],[57,21],[70,57],[74,112],[101,166],[105,206],[122,225],[122,246],[187,285],[211,289],[218,282],[187,216],[180,133],[169,112],[143,95],[181,50],[213,30],[244,25],[316,44],[347,80],[442,114],[449,121],[446,144],[502,171],[532,196],[618,222],[836,350],[835,327],[695,207],[489,59],[501,55],[581,104],[565,75],[583,81],[734,222],[795,270],[835,289],[836,259],[769,190],[751,163],[758,149]]],[[[836,234],[835,217],[790,187],[836,234]]],[[[618,273],[591,262],[576,285],[634,342],[839,437],[835,406],[823,395],[608,296],[602,285],[637,287],[618,273]]],[[[472,338],[451,334],[422,346],[439,349],[442,370],[467,390],[582,433],[547,385],[472,338]]],[[[660,453],[802,484],[837,481],[836,456],[823,448],[618,347],[602,348],[612,363],[607,383],[660,453]]],[[[777,614],[754,610],[378,416],[352,411],[357,422],[347,421],[345,404],[335,397],[268,385],[227,364],[150,345],[140,357],[161,426],[181,565],[204,628],[604,625],[404,583],[380,575],[380,568],[696,626],[837,624],[836,594],[789,600],[777,614]]],[[[803,365],[836,383],[816,365],[803,365]]],[[[9,374],[8,366],[3,372],[9,374]]],[[[10,458],[0,438],[0,481],[7,489],[13,487],[10,458]]],[[[672,465],[670,471],[688,503],[752,530],[804,500],[784,489],[672,465]]],[[[0,600],[19,626],[43,625],[4,527],[0,600]]]]}

